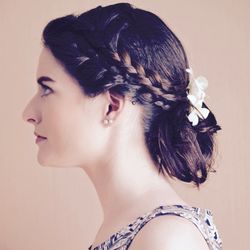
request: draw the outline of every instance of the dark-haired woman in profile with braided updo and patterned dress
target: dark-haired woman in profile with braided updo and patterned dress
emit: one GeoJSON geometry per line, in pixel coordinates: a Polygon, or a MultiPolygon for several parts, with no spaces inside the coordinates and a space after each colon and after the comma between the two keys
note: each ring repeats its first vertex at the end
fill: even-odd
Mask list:
{"type": "Polygon", "coordinates": [[[119,3],[52,20],[43,45],[23,118],[41,165],[81,167],[93,182],[104,219],[89,249],[221,249],[211,211],[169,182],[206,181],[221,129],[173,32],[119,3]]]}

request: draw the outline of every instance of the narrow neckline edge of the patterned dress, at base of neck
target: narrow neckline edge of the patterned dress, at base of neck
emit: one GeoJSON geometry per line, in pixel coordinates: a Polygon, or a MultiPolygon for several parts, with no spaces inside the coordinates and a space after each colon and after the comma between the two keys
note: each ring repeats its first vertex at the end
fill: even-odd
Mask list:
{"type": "Polygon", "coordinates": [[[202,209],[204,211],[208,211],[211,214],[211,210],[208,208],[199,208],[199,207],[195,207],[195,206],[190,206],[190,205],[183,205],[183,204],[171,204],[171,205],[160,205],[157,206],[154,209],[151,209],[150,211],[147,211],[145,213],[143,213],[142,215],[137,216],[134,220],[132,220],[129,224],[127,224],[126,226],[122,227],[120,230],[116,231],[115,233],[113,233],[112,235],[110,235],[105,241],[99,243],[98,245],[96,245],[93,248],[93,244],[91,244],[89,246],[89,250],[97,250],[99,249],[101,246],[107,244],[107,242],[110,242],[110,240],[118,233],[120,233],[121,231],[124,231],[128,228],[129,225],[133,225],[136,221],[138,221],[138,219],[140,218],[145,218],[147,216],[149,216],[150,214],[153,214],[156,210],[159,210],[160,208],[162,209],[167,209],[167,208],[184,208],[186,210],[197,210],[197,209],[202,209]]]}

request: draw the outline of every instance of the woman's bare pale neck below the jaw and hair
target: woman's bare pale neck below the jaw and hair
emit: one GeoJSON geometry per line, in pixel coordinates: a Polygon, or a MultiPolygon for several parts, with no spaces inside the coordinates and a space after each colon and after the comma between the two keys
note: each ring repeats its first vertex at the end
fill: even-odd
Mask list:
{"type": "Polygon", "coordinates": [[[123,153],[116,153],[98,169],[87,171],[99,197],[104,222],[119,216],[120,211],[135,214],[161,204],[184,204],[145,151],[142,147],[119,150],[123,153]]]}

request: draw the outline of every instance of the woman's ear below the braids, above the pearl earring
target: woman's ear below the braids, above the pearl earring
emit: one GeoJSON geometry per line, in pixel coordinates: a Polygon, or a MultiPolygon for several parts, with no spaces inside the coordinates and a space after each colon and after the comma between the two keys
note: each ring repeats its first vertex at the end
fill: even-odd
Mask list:
{"type": "Polygon", "coordinates": [[[122,111],[124,107],[125,97],[111,91],[105,92],[104,95],[108,100],[108,105],[106,108],[105,115],[115,120],[117,115],[119,115],[119,113],[122,111]]]}

